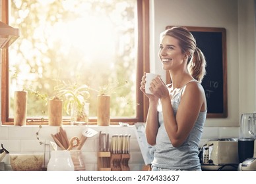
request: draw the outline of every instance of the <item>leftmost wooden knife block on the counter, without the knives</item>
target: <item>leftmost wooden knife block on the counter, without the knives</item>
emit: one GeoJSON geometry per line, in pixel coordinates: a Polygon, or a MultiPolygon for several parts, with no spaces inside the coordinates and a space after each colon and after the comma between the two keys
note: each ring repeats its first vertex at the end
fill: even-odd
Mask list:
{"type": "Polygon", "coordinates": [[[111,171],[110,168],[110,152],[98,152],[98,171],[111,171]]]}

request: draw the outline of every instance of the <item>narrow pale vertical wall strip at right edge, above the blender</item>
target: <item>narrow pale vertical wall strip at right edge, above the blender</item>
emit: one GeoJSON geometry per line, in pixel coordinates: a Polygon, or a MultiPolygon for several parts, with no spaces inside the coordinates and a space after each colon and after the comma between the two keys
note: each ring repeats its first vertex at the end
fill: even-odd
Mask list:
{"type": "Polygon", "coordinates": [[[253,6],[253,0],[245,2],[238,1],[239,106],[241,113],[255,112],[256,110],[255,6],[253,6]]]}

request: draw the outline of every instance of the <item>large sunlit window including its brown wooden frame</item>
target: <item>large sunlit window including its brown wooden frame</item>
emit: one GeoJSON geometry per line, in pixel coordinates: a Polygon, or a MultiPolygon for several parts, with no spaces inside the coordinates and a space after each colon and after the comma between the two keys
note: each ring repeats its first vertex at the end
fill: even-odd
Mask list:
{"type": "MultiPolygon", "coordinates": [[[[14,91],[23,89],[29,124],[47,124],[48,106],[31,92],[53,97],[63,81],[96,90],[125,84],[111,95],[111,121],[144,120],[139,83],[149,69],[148,0],[2,3],[2,22],[20,29],[16,42],[2,51],[3,124],[13,124],[14,91]]],[[[96,122],[98,93],[89,92],[90,122],[96,122]]]]}

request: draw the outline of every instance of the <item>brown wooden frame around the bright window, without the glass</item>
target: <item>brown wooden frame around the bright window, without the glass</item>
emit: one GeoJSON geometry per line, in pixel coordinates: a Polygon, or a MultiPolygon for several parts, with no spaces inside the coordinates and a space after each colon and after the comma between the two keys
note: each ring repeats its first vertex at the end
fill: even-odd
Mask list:
{"type": "MultiPolygon", "coordinates": [[[[140,91],[141,78],[144,72],[149,72],[149,0],[137,0],[138,13],[138,42],[137,42],[137,113],[135,118],[111,118],[112,125],[119,122],[134,124],[145,122],[148,101],[140,91]]],[[[1,22],[9,23],[9,0],[2,0],[1,22]]],[[[8,49],[1,51],[1,122],[2,125],[13,125],[13,118],[9,118],[9,53],[8,49]]],[[[27,118],[26,125],[48,125],[48,119],[27,118]]],[[[90,117],[88,124],[96,124],[97,119],[90,117]]],[[[69,125],[70,120],[63,117],[63,124],[69,125]]]]}

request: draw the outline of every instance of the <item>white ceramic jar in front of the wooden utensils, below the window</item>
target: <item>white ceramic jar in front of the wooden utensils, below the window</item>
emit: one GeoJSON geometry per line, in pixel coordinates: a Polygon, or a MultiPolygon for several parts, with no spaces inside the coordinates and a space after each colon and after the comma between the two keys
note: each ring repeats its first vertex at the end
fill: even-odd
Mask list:
{"type": "Polygon", "coordinates": [[[74,171],[74,164],[69,150],[51,150],[48,171],[74,171]]]}

